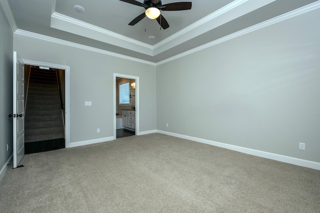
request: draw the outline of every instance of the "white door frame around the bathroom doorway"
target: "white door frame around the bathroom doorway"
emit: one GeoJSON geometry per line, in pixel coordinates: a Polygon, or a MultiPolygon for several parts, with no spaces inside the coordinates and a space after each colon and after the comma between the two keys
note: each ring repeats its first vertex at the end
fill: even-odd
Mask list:
{"type": "Polygon", "coordinates": [[[139,135],[139,77],[133,75],[125,75],[113,73],[113,139],[116,139],[116,77],[129,78],[135,80],[135,135],[139,135]]]}

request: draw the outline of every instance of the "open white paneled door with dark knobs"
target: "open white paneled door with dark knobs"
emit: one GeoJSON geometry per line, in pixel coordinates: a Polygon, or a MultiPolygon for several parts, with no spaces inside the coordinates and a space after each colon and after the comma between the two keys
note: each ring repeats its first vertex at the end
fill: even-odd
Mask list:
{"type": "Polygon", "coordinates": [[[13,52],[13,168],[24,156],[24,64],[13,52]]]}

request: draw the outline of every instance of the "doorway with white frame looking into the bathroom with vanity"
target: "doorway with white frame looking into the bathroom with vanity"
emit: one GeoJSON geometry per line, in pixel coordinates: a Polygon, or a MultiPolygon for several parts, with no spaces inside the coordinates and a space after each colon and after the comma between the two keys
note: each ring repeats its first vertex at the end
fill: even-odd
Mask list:
{"type": "Polygon", "coordinates": [[[113,74],[113,137],[138,135],[138,77],[113,74]]]}

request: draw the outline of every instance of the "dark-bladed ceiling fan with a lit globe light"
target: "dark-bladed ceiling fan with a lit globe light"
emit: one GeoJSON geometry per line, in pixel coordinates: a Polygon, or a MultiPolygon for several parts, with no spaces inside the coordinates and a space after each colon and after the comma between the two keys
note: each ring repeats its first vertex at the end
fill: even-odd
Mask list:
{"type": "Polygon", "coordinates": [[[165,20],[163,15],[160,15],[160,10],[176,11],[176,10],[191,9],[191,2],[174,2],[174,3],[162,4],[161,0],[143,0],[143,3],[136,0],[120,0],[120,1],[131,3],[137,6],[142,6],[145,8],[145,12],[138,15],[129,23],[129,25],[131,26],[133,26],[134,24],[142,20],[146,15],[151,19],[156,19],[157,22],[160,24],[160,26],[163,29],[166,29],[169,27],[169,24],[165,20]]]}

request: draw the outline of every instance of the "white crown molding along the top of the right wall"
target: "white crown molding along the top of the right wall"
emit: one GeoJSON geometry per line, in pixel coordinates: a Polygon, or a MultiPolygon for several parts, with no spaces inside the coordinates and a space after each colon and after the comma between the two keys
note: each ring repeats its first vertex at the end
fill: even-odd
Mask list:
{"type": "Polygon", "coordinates": [[[284,21],[286,19],[289,19],[289,18],[292,18],[292,17],[295,17],[297,15],[300,15],[300,14],[303,14],[305,12],[308,12],[308,11],[311,11],[313,9],[317,9],[320,7],[320,1],[316,1],[314,3],[311,3],[311,4],[308,4],[306,6],[303,6],[303,7],[300,7],[298,9],[295,9],[295,10],[292,10],[290,12],[287,12],[287,13],[284,13],[282,15],[279,15],[277,17],[274,17],[274,18],[271,18],[269,20],[266,20],[266,21],[263,21],[261,23],[258,23],[258,24],[255,24],[253,26],[250,26],[250,27],[247,27],[245,29],[242,29],[242,30],[239,30],[237,32],[234,32],[232,34],[229,34],[229,35],[226,35],[222,38],[219,38],[219,39],[216,39],[214,41],[211,41],[209,43],[206,43],[206,44],[203,44],[201,46],[198,46],[198,47],[195,47],[193,49],[190,49],[188,51],[185,51],[185,52],[182,52],[180,54],[177,54],[175,56],[172,56],[170,58],[167,58],[165,60],[162,60],[162,61],[159,61],[157,63],[155,63],[155,65],[160,65],[160,64],[163,64],[163,63],[166,63],[166,62],[169,62],[169,61],[172,61],[172,60],[175,60],[175,59],[178,59],[178,58],[181,58],[185,55],[189,55],[189,54],[192,54],[194,52],[197,52],[197,51],[200,51],[202,49],[205,49],[205,48],[208,48],[208,47],[211,47],[211,46],[214,46],[216,44],[219,44],[219,43],[222,43],[224,41],[227,41],[227,40],[230,40],[232,38],[236,38],[238,36],[241,36],[241,35],[244,35],[246,33],[249,33],[249,32],[252,32],[252,31],[255,31],[255,30],[258,30],[258,29],[261,29],[261,28],[264,28],[264,27],[267,27],[269,25],[272,25],[272,24],[275,24],[275,23],[278,23],[280,21],[284,21]]]}

